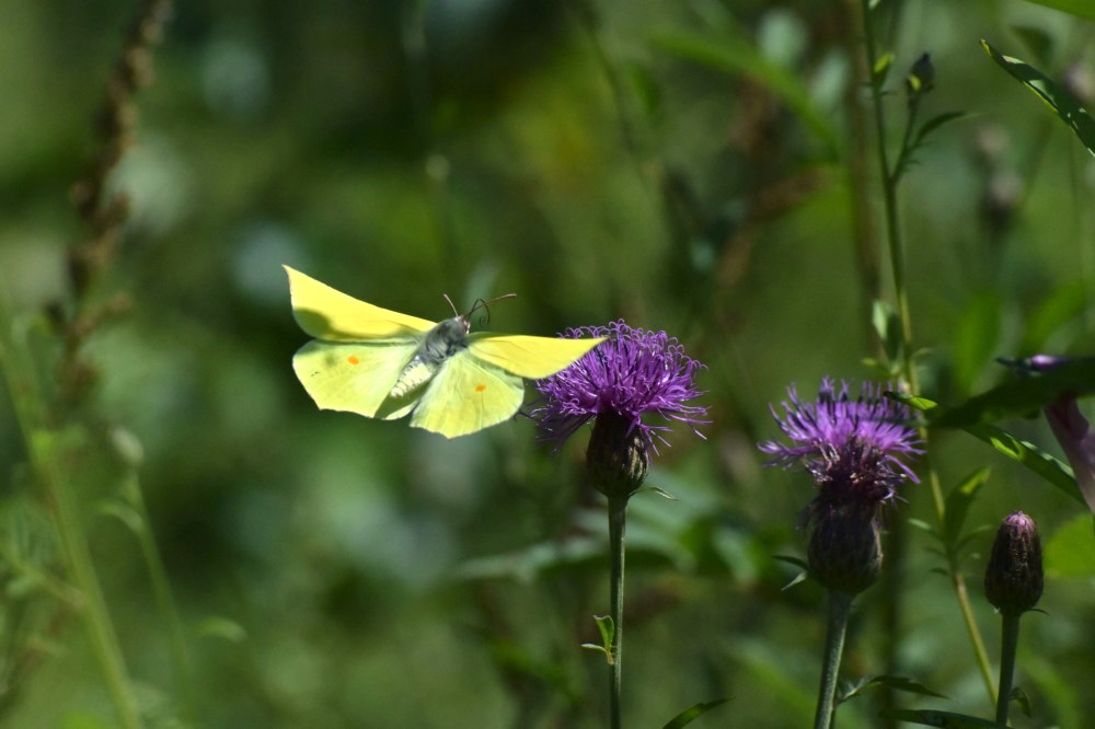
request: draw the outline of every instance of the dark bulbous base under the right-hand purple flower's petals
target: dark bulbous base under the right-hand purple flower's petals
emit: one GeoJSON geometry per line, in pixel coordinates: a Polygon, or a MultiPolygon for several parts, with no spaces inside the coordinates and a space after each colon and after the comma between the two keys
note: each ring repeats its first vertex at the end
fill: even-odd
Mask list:
{"type": "Polygon", "coordinates": [[[883,567],[883,545],[874,509],[843,505],[814,516],[808,551],[810,575],[830,590],[863,592],[883,567]]]}

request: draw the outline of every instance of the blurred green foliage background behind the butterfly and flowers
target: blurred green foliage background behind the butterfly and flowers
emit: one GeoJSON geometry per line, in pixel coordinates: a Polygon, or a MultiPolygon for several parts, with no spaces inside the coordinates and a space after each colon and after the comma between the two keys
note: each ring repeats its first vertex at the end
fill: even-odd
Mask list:
{"type": "MultiPolygon", "coordinates": [[[[131,3],[0,3],[0,282],[54,393],[69,311],[66,254],[89,235],[69,189],[131,3]]],[[[1091,352],[1095,166],[984,55],[981,38],[1095,94],[1093,25],[1024,2],[883,2],[902,78],[923,53],[934,132],[901,193],[925,393],[958,402],[996,356],[1091,352]]],[[[131,212],[81,305],[128,311],[87,338],[80,493],[107,602],[152,726],[180,726],[164,624],[131,530],[103,508],[134,437],[137,471],[186,626],[209,727],[598,727],[608,609],[604,518],[580,477],[585,433],[557,453],[526,418],[446,441],[405,423],[320,413],[290,359],[289,264],[382,306],[438,320],[442,293],[491,327],[552,335],[623,317],[706,363],[706,440],[678,429],[633,499],[627,726],[805,726],[823,635],[803,556],[806,475],[762,470],[754,443],[797,382],[878,377],[852,170],[877,162],[846,3],[693,0],[177,2],[137,97],[137,143],[111,177],[131,212]],[[865,106],[864,106],[865,108],[865,106]],[[862,117],[861,117],[862,118],[862,117]],[[863,147],[865,144],[865,148],[863,147]],[[863,151],[868,157],[863,157],[863,151]],[[857,151],[858,150],[858,151],[857,151]],[[119,433],[122,433],[119,436],[119,433]]],[[[885,250],[885,242],[877,238],[885,250]]],[[[884,258],[884,257],[883,257],[884,258]]],[[[888,266],[880,270],[890,297],[888,266]]],[[[531,390],[531,389],[530,389],[531,390]]],[[[1059,453],[1040,420],[1004,424],[1059,453]]],[[[992,531],[1023,509],[1047,541],[1077,505],[963,433],[933,442],[944,487],[992,467],[969,518],[979,598],[992,531]]],[[[0,401],[4,551],[57,574],[42,493],[0,401]]],[[[930,521],[923,487],[897,518],[930,521]]],[[[903,673],[987,715],[942,560],[912,535],[903,673]]],[[[110,726],[79,621],[4,563],[0,724],[110,726]],[[31,657],[27,663],[26,659],[31,657]],[[16,670],[18,669],[18,670],[16,670]]],[[[1025,621],[1034,717],[1095,716],[1095,558],[1051,574],[1025,621]]],[[[883,671],[878,589],[857,602],[849,678],[883,671]]],[[[996,656],[999,625],[976,601],[996,656]]],[[[875,726],[867,696],[842,726],[875,726]]]]}

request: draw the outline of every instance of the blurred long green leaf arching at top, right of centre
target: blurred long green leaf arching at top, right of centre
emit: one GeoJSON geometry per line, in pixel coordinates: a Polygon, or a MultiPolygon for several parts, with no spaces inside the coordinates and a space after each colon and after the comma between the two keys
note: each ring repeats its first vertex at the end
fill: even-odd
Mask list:
{"type": "Polygon", "coordinates": [[[837,159],[837,132],[814,104],[799,74],[766,59],[745,33],[724,28],[717,38],[706,38],[670,31],[655,34],[652,43],[681,58],[763,84],[814,132],[825,146],[828,159],[837,159]]]}

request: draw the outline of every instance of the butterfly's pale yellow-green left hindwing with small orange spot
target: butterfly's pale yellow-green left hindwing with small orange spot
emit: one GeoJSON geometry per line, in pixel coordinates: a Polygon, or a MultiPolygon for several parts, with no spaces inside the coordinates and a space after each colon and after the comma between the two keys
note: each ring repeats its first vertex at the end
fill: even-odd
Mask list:
{"type": "Polygon", "coordinates": [[[292,357],[292,369],[320,409],[395,419],[414,406],[391,398],[392,386],[414,357],[417,342],[309,342],[292,357]]]}

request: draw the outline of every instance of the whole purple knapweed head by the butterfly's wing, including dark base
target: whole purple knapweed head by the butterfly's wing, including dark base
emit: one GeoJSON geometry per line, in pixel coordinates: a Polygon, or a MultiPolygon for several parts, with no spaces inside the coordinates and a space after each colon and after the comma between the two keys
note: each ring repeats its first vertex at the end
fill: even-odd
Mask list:
{"type": "Polygon", "coordinates": [[[665,332],[632,328],[623,321],[608,326],[568,329],[565,337],[608,337],[562,372],[540,380],[544,404],[532,412],[544,440],[562,443],[593,420],[587,467],[602,493],[634,491],[646,477],[649,451],[676,420],[706,424],[706,406],[694,378],[703,367],[665,332]],[[662,421],[650,423],[649,416],[662,421]]]}

